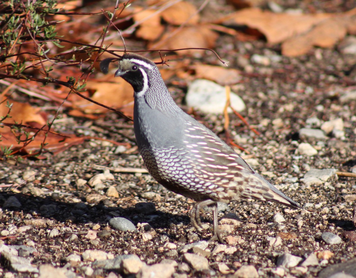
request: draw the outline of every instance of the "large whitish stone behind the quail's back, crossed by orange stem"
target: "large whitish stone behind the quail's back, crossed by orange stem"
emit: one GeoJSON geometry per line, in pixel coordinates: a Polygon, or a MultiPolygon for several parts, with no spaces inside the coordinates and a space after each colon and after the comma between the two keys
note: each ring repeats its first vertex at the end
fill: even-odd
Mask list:
{"type": "MultiPolygon", "coordinates": [[[[197,79],[189,85],[186,101],[189,107],[199,109],[204,113],[222,114],[226,105],[225,87],[209,80],[197,79]]],[[[232,92],[230,103],[231,107],[238,112],[246,108],[244,101],[232,92]]],[[[232,112],[231,109],[228,111],[232,112]]]]}

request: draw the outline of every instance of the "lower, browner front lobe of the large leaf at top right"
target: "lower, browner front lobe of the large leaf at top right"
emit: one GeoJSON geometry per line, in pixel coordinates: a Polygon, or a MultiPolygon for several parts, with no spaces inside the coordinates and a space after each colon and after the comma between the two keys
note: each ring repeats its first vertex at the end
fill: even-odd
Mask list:
{"type": "Polygon", "coordinates": [[[324,20],[306,34],[282,43],[282,54],[295,57],[307,53],[313,46],[331,47],[346,36],[345,20],[340,17],[324,20]]]}

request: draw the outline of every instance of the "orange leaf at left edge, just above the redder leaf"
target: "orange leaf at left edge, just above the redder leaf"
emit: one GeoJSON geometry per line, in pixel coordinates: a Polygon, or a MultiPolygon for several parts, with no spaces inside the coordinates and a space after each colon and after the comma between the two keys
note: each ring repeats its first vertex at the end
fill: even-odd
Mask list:
{"type": "MultiPolygon", "coordinates": [[[[21,123],[29,124],[36,127],[42,127],[47,124],[47,117],[45,113],[41,112],[41,108],[32,107],[28,103],[21,103],[13,101],[11,99],[6,99],[5,97],[0,97],[0,117],[5,117],[9,112],[9,108],[6,107],[7,101],[12,103],[11,111],[9,115],[11,118],[4,120],[4,123],[21,123]]],[[[0,133],[9,132],[9,127],[0,128],[0,133]]]]}

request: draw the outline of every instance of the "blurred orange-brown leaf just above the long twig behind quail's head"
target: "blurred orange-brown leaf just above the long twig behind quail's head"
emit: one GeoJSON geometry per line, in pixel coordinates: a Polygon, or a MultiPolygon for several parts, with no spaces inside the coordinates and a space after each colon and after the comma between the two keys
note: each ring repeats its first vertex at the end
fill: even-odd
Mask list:
{"type": "MultiPolygon", "coordinates": [[[[215,41],[218,38],[218,34],[211,31],[209,27],[204,25],[184,27],[177,29],[171,29],[166,32],[162,38],[149,46],[149,48],[211,48],[214,47],[215,41]]],[[[181,55],[191,55],[193,53],[202,54],[204,50],[181,50],[181,55]]]]}

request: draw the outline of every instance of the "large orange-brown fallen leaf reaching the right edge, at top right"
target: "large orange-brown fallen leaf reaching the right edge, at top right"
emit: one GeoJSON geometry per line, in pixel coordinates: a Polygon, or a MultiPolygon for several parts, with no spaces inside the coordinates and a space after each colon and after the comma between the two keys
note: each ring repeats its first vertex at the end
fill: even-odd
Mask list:
{"type": "Polygon", "coordinates": [[[283,43],[282,53],[298,56],[313,46],[332,47],[347,32],[356,32],[356,9],[339,14],[289,14],[248,8],[216,23],[247,25],[262,32],[270,43],[283,43]]]}

